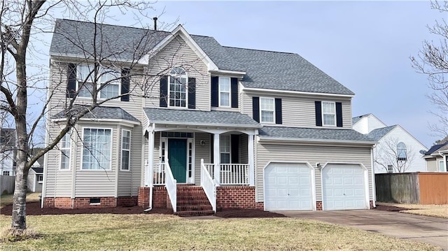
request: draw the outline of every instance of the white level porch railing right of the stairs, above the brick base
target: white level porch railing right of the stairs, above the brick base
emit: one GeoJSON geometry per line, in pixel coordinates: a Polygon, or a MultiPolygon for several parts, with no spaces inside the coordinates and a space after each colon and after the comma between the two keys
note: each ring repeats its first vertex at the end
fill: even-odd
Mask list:
{"type": "MultiPolygon", "coordinates": [[[[204,164],[214,177],[214,164],[204,164]]],[[[220,185],[249,185],[249,164],[220,164],[220,185]]]]}

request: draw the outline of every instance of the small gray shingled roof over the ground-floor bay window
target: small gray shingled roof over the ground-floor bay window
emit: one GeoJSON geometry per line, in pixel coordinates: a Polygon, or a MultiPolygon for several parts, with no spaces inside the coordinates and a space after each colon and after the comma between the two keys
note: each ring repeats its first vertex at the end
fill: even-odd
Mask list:
{"type": "MultiPolygon", "coordinates": [[[[76,110],[83,108],[85,108],[85,106],[75,106],[72,110],[76,113],[76,110]]],[[[65,112],[62,111],[52,116],[52,119],[64,117],[66,117],[66,115],[65,112]]],[[[139,122],[137,118],[130,115],[130,113],[127,113],[127,111],[123,110],[120,107],[99,106],[97,108],[94,108],[90,113],[86,113],[84,117],[90,119],[129,120],[139,122]]]]}

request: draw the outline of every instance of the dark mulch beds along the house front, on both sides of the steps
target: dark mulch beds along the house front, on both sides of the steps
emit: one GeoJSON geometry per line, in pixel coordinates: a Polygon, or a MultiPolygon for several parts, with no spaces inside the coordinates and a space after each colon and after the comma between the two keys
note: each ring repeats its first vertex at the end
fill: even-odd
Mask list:
{"type": "MultiPolygon", "coordinates": [[[[13,205],[4,206],[0,209],[1,215],[11,215],[13,212],[13,205]]],[[[91,214],[91,213],[111,213],[116,215],[137,215],[141,213],[159,213],[164,215],[172,215],[173,210],[168,208],[153,208],[151,211],[144,212],[144,208],[140,206],[118,206],[116,208],[74,208],[74,209],[62,209],[62,208],[41,208],[41,203],[28,202],[27,203],[27,215],[78,215],[78,214],[91,214]]],[[[215,216],[224,218],[234,217],[286,217],[278,213],[265,212],[258,209],[236,209],[230,208],[218,211],[215,216]]]]}

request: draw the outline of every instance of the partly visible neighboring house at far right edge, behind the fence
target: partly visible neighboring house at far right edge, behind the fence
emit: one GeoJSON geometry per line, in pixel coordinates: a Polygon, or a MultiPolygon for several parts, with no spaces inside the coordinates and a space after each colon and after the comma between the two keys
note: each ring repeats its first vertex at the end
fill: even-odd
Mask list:
{"type": "Polygon", "coordinates": [[[423,155],[426,161],[426,168],[431,172],[446,172],[448,171],[448,137],[444,138],[442,143],[433,145],[423,155]]]}

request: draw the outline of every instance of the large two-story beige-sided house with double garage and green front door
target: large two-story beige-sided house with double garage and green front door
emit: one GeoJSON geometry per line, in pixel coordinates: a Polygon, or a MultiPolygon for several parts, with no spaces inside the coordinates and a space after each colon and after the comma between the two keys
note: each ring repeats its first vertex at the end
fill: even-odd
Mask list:
{"type": "MultiPolygon", "coordinates": [[[[47,138],[66,123],[70,93],[85,94],[76,76],[83,79],[88,60],[69,38],[91,45],[93,27],[56,22],[50,88],[61,92],[49,103],[47,138]]],[[[106,24],[97,30],[123,44],[148,32],[106,24]]],[[[151,32],[159,39],[139,61],[153,73],[151,96],[133,88],[142,78],[123,77],[111,92],[125,86],[134,95],[87,113],[76,124],[79,134],[45,155],[43,207],[138,203],[179,215],[372,208],[375,142],[352,129],[353,92],[297,54],[225,47],[181,25],[151,32]]]]}

